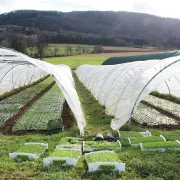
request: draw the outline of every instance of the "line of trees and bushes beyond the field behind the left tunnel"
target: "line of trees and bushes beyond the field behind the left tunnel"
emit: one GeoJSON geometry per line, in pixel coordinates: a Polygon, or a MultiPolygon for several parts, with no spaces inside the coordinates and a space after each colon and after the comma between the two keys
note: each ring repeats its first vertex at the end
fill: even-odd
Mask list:
{"type": "Polygon", "coordinates": [[[84,45],[66,45],[64,47],[49,47],[44,36],[39,36],[34,46],[31,47],[27,47],[24,40],[14,40],[11,43],[11,48],[16,51],[27,54],[33,58],[40,59],[42,59],[43,57],[72,56],[104,52],[104,48],[102,45],[92,47],[84,45]],[[61,51],[64,51],[64,53],[61,53],[61,51]]]}

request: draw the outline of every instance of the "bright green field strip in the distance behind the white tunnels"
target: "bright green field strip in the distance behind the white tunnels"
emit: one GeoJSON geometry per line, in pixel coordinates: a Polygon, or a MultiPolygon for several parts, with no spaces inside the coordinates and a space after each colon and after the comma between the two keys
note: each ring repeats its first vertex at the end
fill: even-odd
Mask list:
{"type": "Polygon", "coordinates": [[[44,60],[52,64],[66,64],[70,67],[78,67],[83,64],[92,64],[100,65],[109,56],[96,56],[96,55],[87,55],[87,56],[70,56],[70,57],[61,57],[61,58],[45,58],[44,60]]]}

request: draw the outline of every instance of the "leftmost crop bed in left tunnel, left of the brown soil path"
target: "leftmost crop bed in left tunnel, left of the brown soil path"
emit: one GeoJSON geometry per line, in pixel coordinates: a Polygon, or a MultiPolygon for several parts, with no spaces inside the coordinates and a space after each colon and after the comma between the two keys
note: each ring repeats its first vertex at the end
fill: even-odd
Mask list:
{"type": "Polygon", "coordinates": [[[43,89],[49,86],[53,82],[52,77],[48,77],[44,81],[22,90],[21,92],[14,94],[6,99],[0,101],[0,127],[15,114],[19,109],[39,94],[43,89]]]}

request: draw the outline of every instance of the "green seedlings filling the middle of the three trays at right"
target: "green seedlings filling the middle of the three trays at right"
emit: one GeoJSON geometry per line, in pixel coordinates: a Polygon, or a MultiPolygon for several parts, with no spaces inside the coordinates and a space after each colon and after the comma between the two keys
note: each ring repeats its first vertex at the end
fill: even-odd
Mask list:
{"type": "Polygon", "coordinates": [[[163,141],[160,136],[146,136],[146,137],[137,137],[131,138],[131,144],[139,144],[144,142],[159,142],[163,141]]]}

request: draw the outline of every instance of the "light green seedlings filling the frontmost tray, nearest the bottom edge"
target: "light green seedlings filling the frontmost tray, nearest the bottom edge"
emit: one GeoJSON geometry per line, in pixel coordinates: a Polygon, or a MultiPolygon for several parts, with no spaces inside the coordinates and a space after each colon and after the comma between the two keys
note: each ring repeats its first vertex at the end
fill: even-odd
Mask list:
{"type": "Polygon", "coordinates": [[[114,152],[89,153],[86,156],[88,163],[95,162],[121,162],[114,152]]]}

